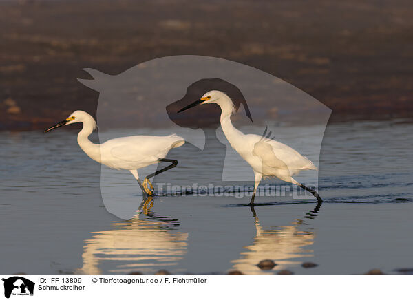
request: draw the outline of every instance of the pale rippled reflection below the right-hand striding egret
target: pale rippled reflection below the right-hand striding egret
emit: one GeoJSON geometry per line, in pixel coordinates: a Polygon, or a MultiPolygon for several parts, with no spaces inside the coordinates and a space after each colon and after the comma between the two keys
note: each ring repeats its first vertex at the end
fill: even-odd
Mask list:
{"type": "Polygon", "coordinates": [[[301,264],[303,257],[312,257],[313,251],[305,249],[306,246],[314,244],[315,233],[312,231],[301,231],[299,226],[306,225],[305,219],[314,219],[321,208],[321,202],[306,213],[303,218],[297,219],[291,226],[264,229],[260,220],[251,206],[255,220],[255,235],[252,245],[244,247],[240,259],[231,261],[233,270],[239,270],[245,275],[272,275],[278,270],[295,267],[301,264]],[[277,266],[271,271],[261,270],[257,264],[264,259],[273,259],[277,266]]]}

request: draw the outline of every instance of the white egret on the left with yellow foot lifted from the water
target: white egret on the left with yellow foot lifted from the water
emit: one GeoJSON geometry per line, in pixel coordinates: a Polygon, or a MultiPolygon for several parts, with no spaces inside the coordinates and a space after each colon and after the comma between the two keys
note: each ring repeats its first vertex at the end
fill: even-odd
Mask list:
{"type": "Polygon", "coordinates": [[[178,161],[169,160],[165,156],[167,156],[169,150],[180,147],[185,142],[180,136],[171,134],[171,136],[126,136],[108,140],[103,144],[94,144],[88,137],[97,128],[96,122],[92,116],[81,110],[74,111],[66,120],[53,125],[45,132],[77,122],[83,123],[83,128],[78,133],[77,140],[87,156],[109,168],[129,170],[138,180],[142,192],[149,195],[153,195],[153,186],[149,178],[176,167],[178,161]],[[158,162],[170,162],[171,164],[147,175],[142,184],[137,169],[158,162]]]}

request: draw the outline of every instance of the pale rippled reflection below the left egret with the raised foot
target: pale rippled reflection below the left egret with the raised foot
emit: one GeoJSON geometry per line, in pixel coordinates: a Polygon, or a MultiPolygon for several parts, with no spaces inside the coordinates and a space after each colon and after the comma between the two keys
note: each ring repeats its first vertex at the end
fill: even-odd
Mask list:
{"type": "Polygon", "coordinates": [[[178,219],[157,215],[151,212],[152,206],[153,199],[148,197],[134,218],[114,223],[109,231],[92,233],[92,239],[85,240],[83,266],[78,273],[101,275],[100,264],[109,265],[105,272],[120,275],[153,274],[176,266],[187,253],[188,234],[177,231],[178,219]],[[139,219],[140,215],[145,219],[139,219]]]}

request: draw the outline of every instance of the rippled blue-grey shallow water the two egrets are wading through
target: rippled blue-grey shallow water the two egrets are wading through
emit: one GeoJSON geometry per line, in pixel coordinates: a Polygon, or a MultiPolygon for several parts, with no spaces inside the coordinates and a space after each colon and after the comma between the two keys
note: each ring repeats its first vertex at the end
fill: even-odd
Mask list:
{"type": "MultiPolygon", "coordinates": [[[[268,275],[288,269],[297,275],[339,275],[372,268],[395,274],[396,268],[412,267],[413,125],[403,120],[328,125],[319,160],[316,145],[306,148],[317,140],[316,125],[295,127],[306,132],[300,139],[291,137],[290,127],[278,129],[273,130],[277,140],[319,165],[321,207],[310,195],[264,194],[256,202],[266,205],[253,212],[243,205],[248,195],[232,192],[160,196],[140,206],[134,178],[101,170],[79,149],[75,131],[0,133],[0,272],[149,275],[160,269],[175,274],[236,269],[268,275]],[[116,211],[119,203],[130,220],[105,209],[116,211]],[[262,259],[277,266],[260,270],[262,259]],[[304,261],[319,266],[302,268],[304,261]]],[[[218,140],[207,138],[204,151],[190,144],[173,149],[169,156],[180,162],[177,169],[155,181],[251,188],[252,171],[242,162],[237,173],[249,172],[251,180],[222,180],[222,160],[216,156],[224,148],[218,140]]],[[[314,174],[300,178],[317,184],[314,174]]],[[[288,184],[266,180],[263,192],[271,191],[265,184],[290,191],[288,184]]]]}

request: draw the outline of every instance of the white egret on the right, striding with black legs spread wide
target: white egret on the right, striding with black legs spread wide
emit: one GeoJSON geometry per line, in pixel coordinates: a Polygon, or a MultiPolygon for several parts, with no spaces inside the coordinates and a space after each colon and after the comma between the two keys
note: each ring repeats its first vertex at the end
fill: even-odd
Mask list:
{"type": "Polygon", "coordinates": [[[251,197],[250,205],[254,205],[255,192],[264,177],[277,177],[286,182],[297,184],[302,189],[306,189],[312,193],[319,202],[322,202],[319,194],[313,190],[297,182],[293,176],[297,175],[301,170],[317,170],[317,167],[305,156],[286,144],[277,142],[265,135],[244,134],[236,129],[231,122],[231,115],[235,112],[233,101],[229,96],[220,91],[210,91],[204,94],[199,100],[180,109],[187,110],[197,105],[208,103],[216,103],[221,107],[221,127],[226,136],[226,139],[231,144],[231,147],[237,151],[254,170],[255,185],[253,196],[251,197]]]}

